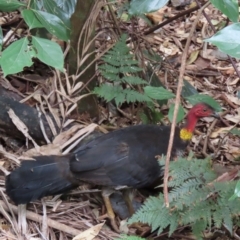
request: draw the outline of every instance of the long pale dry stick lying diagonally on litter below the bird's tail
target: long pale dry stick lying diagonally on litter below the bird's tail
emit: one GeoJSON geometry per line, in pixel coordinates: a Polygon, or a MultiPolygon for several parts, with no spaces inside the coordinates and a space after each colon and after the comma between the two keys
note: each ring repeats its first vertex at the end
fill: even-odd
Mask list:
{"type": "MultiPolygon", "coordinates": [[[[4,203],[4,201],[0,200],[0,205],[6,210],[6,211],[10,211],[9,208],[7,207],[7,205],[4,203]]],[[[15,214],[18,214],[18,208],[12,204],[9,203],[9,207],[11,208],[11,210],[15,213],[15,214]]],[[[34,212],[31,212],[31,211],[26,211],[26,217],[27,219],[30,219],[32,221],[35,221],[35,222],[38,222],[38,223],[42,223],[43,221],[43,217],[34,213],[34,212]]],[[[71,236],[76,236],[78,234],[81,233],[80,230],[77,230],[75,228],[72,228],[72,227],[69,227],[65,224],[62,224],[62,223],[59,223],[55,220],[52,220],[50,218],[47,218],[47,224],[49,227],[52,227],[52,228],[55,228],[59,231],[62,231],[62,232],[65,232],[67,234],[70,234],[71,236]]]]}

